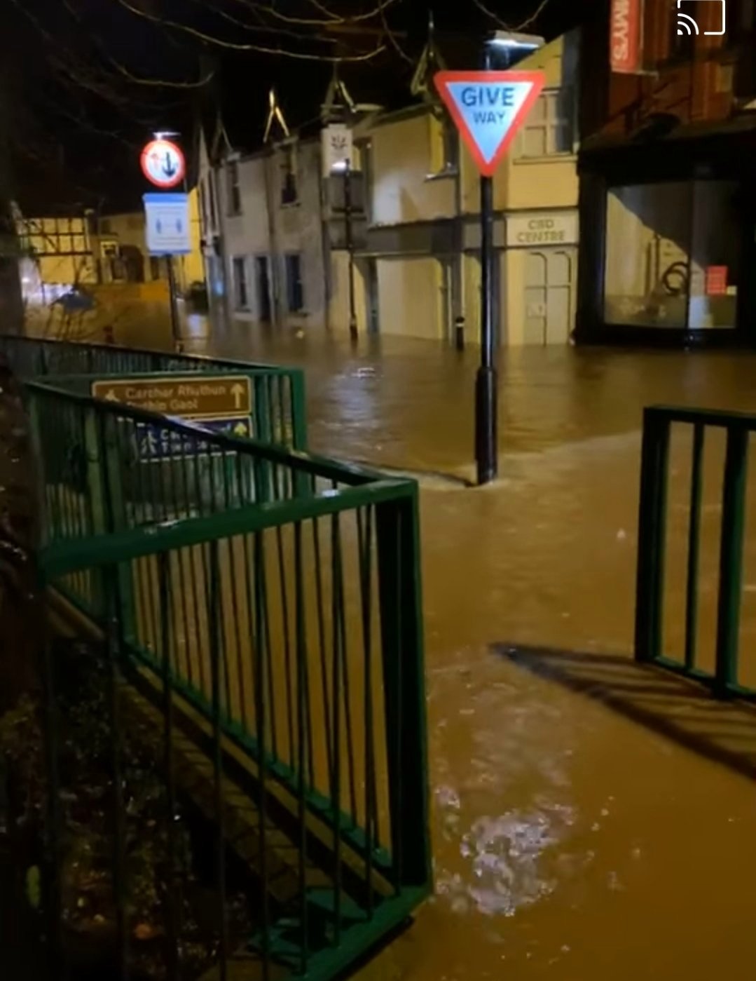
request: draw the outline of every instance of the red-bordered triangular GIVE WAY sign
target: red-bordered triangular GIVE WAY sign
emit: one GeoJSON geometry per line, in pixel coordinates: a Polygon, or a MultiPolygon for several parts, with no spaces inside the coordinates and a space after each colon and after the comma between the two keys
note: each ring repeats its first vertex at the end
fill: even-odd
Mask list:
{"type": "Polygon", "coordinates": [[[483,177],[501,158],[540,95],[542,72],[438,72],[433,78],[483,177]]]}

